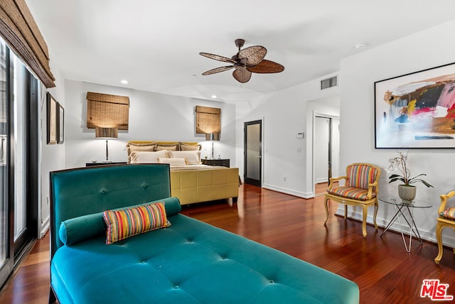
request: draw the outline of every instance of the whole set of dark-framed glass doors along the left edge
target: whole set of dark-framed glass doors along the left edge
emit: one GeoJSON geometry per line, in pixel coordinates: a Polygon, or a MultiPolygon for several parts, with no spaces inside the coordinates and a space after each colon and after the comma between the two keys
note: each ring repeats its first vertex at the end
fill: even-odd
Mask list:
{"type": "Polygon", "coordinates": [[[38,80],[0,40],[0,287],[38,236],[38,80]]]}

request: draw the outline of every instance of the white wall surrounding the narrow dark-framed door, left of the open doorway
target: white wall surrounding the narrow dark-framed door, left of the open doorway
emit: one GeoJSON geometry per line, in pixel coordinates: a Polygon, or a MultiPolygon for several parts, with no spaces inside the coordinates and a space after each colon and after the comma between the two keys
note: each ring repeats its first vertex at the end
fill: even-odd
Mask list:
{"type": "Polygon", "coordinates": [[[244,123],[262,119],[263,187],[299,197],[314,197],[313,112],[338,114],[338,109],[316,101],[337,95],[338,87],[321,91],[317,79],[264,94],[247,104],[237,104],[236,166],[240,169],[240,176],[244,173],[244,123]],[[296,139],[296,134],[302,131],[304,139],[296,139]]]}

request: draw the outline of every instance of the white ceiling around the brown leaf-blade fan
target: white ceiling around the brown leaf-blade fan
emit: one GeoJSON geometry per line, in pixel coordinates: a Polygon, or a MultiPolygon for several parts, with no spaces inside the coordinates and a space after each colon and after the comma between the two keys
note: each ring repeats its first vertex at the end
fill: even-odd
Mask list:
{"type": "MultiPolygon", "coordinates": [[[[236,102],[338,71],[342,58],[454,18],[454,0],[26,0],[68,80],[236,102]],[[263,45],[284,72],[241,85],[234,40],[263,45]],[[368,42],[363,49],[354,48],[368,42]],[[122,85],[120,80],[128,80],[122,85]]],[[[447,33],[450,38],[452,33],[447,33]]],[[[422,43],[425,43],[422,41],[422,43]]],[[[403,53],[418,45],[410,45],[403,53]]]]}

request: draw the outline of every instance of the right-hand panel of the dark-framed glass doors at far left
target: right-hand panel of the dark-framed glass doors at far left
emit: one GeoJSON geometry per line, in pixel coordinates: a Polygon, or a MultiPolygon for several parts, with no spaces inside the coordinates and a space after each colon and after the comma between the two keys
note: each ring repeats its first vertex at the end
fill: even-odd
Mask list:
{"type": "Polygon", "coordinates": [[[14,256],[38,236],[38,80],[15,58],[14,256]]]}

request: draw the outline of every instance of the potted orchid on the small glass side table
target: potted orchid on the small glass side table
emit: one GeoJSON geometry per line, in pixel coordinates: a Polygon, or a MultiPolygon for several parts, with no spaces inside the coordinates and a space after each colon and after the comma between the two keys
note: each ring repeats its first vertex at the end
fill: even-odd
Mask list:
{"type": "Polygon", "coordinates": [[[399,174],[392,174],[389,176],[389,183],[393,183],[396,181],[401,181],[402,184],[398,185],[398,195],[402,200],[405,201],[412,201],[415,198],[416,188],[414,183],[422,183],[426,185],[428,188],[434,188],[432,185],[427,183],[425,180],[422,180],[422,176],[427,176],[424,173],[419,175],[415,175],[411,177],[411,172],[407,168],[407,152],[403,153],[402,151],[398,151],[398,156],[389,159],[389,168],[387,168],[387,172],[391,173],[393,171],[398,170],[399,174]]]}

